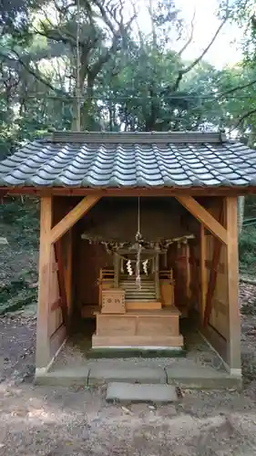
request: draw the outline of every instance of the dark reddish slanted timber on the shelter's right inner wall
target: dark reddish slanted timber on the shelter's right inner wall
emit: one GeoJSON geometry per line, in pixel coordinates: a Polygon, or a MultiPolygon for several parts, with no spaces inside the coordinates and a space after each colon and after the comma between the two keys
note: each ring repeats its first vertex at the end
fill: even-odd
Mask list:
{"type": "MultiPolygon", "coordinates": [[[[223,223],[223,217],[224,217],[224,213],[223,213],[223,204],[222,204],[220,207],[220,215],[219,215],[220,223],[223,223]]],[[[210,268],[210,278],[209,278],[209,284],[208,284],[207,295],[206,295],[206,304],[205,304],[205,310],[204,310],[204,316],[203,316],[203,326],[205,326],[205,327],[208,326],[209,320],[210,320],[210,314],[211,314],[211,309],[212,309],[212,299],[213,299],[213,295],[214,295],[215,287],[216,287],[216,283],[217,283],[221,247],[222,247],[222,244],[220,243],[220,240],[215,237],[214,243],[213,243],[213,255],[212,255],[212,261],[211,261],[211,268],[210,268]]]]}

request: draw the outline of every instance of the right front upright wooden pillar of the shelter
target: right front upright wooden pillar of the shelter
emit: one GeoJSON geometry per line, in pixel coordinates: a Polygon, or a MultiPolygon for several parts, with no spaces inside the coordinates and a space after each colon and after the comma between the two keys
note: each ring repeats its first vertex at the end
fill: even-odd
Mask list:
{"type": "Polygon", "coordinates": [[[239,306],[239,255],[237,198],[226,198],[227,244],[227,279],[228,279],[228,353],[230,373],[241,374],[241,315],[239,306]]]}

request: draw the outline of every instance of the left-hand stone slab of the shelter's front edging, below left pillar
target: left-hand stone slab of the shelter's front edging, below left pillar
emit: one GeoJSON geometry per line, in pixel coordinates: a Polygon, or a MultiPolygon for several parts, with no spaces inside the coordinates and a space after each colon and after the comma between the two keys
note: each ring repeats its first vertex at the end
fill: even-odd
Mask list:
{"type": "Polygon", "coordinates": [[[72,367],[56,369],[52,372],[41,373],[36,372],[36,385],[51,385],[69,387],[72,385],[83,386],[88,383],[89,368],[72,367]]]}

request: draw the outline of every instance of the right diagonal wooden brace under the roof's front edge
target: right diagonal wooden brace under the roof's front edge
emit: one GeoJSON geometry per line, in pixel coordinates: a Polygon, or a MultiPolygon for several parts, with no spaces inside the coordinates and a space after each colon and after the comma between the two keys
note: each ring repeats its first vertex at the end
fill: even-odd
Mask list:
{"type": "Polygon", "coordinates": [[[191,196],[177,196],[176,199],[200,223],[203,223],[210,233],[214,234],[221,243],[227,244],[227,230],[208,212],[199,202],[191,196]]]}

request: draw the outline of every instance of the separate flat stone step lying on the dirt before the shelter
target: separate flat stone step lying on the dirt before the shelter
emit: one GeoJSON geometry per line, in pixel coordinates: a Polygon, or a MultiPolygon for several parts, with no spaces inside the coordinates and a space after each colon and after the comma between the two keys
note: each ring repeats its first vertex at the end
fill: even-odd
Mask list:
{"type": "Polygon", "coordinates": [[[118,400],[119,402],[175,402],[179,400],[175,387],[163,384],[138,385],[126,382],[108,383],[108,401],[118,400]]]}

